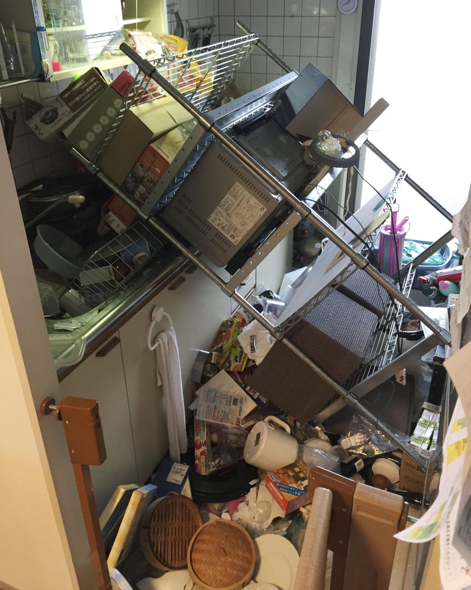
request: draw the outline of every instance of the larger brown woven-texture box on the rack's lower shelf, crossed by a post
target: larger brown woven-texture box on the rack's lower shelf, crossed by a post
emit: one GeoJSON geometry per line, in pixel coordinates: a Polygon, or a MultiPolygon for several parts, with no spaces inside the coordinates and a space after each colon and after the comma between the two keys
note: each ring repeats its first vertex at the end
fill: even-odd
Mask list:
{"type": "MultiPolygon", "coordinates": [[[[286,337],[334,381],[344,383],[365,358],[376,324],[374,313],[332,291],[286,337]]],[[[248,385],[302,424],[336,395],[282,341],[274,343],[248,385]]]]}

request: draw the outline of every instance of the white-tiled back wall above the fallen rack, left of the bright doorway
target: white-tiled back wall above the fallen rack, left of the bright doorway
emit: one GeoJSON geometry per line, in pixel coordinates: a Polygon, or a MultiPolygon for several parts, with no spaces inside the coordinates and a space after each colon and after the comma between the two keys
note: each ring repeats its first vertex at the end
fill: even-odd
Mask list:
{"type": "MultiPolygon", "coordinates": [[[[337,15],[336,0],[219,0],[220,38],[240,35],[235,27],[240,20],[293,69],[312,63],[332,78],[337,15]]],[[[247,92],[281,74],[282,69],[255,48],[240,68],[237,86],[247,92]]]]}

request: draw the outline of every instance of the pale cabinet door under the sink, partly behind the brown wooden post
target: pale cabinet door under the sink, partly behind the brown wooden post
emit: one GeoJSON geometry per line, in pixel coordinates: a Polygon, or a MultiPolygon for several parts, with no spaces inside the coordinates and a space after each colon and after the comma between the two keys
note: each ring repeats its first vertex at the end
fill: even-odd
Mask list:
{"type": "Polygon", "coordinates": [[[106,460],[100,466],[90,466],[90,473],[101,513],[116,486],[139,481],[117,333],[60,383],[60,391],[63,398],[73,395],[98,402],[106,460]]]}

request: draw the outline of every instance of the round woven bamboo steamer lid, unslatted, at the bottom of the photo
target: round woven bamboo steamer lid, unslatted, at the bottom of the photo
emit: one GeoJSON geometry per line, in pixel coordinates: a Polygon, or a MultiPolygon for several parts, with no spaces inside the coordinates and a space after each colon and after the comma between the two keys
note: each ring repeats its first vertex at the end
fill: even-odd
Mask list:
{"type": "Polygon", "coordinates": [[[243,588],[254,566],[255,548],[250,536],[230,520],[206,523],[189,544],[189,575],[204,590],[243,588]]]}

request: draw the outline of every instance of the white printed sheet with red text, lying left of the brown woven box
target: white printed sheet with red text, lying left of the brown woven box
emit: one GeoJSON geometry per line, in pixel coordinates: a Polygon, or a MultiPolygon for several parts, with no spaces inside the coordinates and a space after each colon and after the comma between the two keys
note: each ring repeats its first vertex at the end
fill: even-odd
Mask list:
{"type": "MultiPolygon", "coordinates": [[[[200,390],[201,391],[201,390],[200,390]]],[[[196,411],[198,420],[240,426],[246,398],[244,393],[223,394],[215,389],[203,389],[196,411]]]]}

